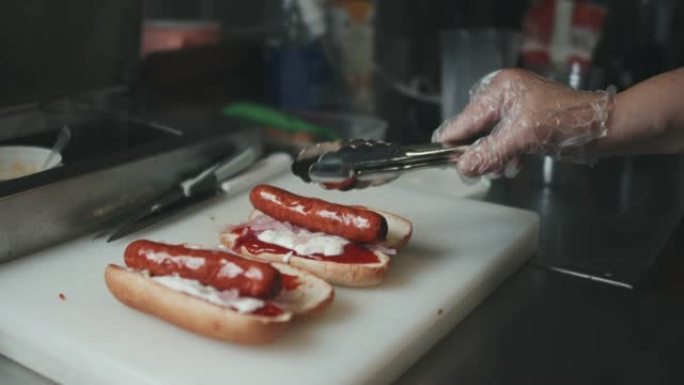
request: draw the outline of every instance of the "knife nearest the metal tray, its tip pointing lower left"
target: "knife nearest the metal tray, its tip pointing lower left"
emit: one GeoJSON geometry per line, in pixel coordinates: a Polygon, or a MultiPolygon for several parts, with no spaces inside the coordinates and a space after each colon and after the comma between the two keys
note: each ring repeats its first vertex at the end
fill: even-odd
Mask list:
{"type": "Polygon", "coordinates": [[[163,194],[143,205],[141,211],[124,221],[107,239],[112,242],[126,235],[148,228],[185,209],[220,195],[221,184],[245,170],[256,160],[256,152],[248,148],[238,155],[211,165],[197,175],[173,186],[163,194]]]}

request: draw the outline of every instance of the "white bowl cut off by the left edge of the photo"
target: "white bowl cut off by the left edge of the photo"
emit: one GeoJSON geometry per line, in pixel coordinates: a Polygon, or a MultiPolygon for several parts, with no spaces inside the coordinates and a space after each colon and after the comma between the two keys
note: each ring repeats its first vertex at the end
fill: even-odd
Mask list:
{"type": "MultiPolygon", "coordinates": [[[[49,148],[31,146],[3,146],[0,147],[0,180],[10,180],[35,174],[47,157],[50,155],[49,148]]],[[[59,166],[62,156],[55,154],[45,170],[59,166]]]]}

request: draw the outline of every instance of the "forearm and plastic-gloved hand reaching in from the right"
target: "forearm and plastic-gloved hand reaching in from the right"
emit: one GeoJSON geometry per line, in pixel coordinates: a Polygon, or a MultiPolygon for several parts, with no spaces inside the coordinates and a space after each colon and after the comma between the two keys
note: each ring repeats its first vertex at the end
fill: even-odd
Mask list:
{"type": "Polygon", "coordinates": [[[470,104],[433,134],[455,142],[487,133],[458,162],[469,177],[501,174],[521,153],[595,156],[684,152],[684,69],[617,96],[570,89],[528,71],[483,78],[470,104]]]}

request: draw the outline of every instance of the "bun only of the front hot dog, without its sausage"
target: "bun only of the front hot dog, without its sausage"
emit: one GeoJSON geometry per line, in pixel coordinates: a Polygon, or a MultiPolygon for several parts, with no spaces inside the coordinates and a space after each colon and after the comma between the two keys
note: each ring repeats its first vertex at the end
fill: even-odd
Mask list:
{"type": "Polygon", "coordinates": [[[164,286],[144,273],[109,265],[105,282],[123,304],[199,335],[239,344],[265,344],[283,334],[295,318],[318,314],[333,301],[332,287],[293,267],[273,264],[296,277],[296,287],[284,287],[273,299],[284,311],[278,315],[239,313],[164,286]]]}

